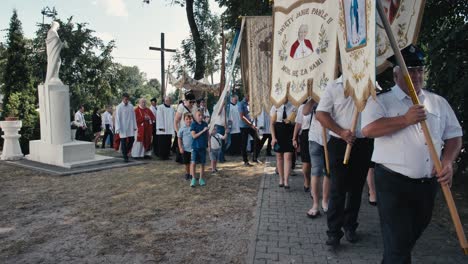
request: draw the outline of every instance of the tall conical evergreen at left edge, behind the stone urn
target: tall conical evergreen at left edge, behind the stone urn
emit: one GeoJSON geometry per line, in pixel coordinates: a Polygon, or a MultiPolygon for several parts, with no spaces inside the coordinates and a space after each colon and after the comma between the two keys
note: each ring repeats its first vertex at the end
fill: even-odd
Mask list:
{"type": "Polygon", "coordinates": [[[2,93],[3,115],[17,115],[22,120],[20,144],[23,153],[29,152],[29,140],[38,138],[38,117],[35,111],[36,91],[31,80],[28,58],[31,51],[23,36],[21,21],[18,13],[13,10],[10,27],[7,34],[5,50],[6,64],[3,74],[2,93]]]}

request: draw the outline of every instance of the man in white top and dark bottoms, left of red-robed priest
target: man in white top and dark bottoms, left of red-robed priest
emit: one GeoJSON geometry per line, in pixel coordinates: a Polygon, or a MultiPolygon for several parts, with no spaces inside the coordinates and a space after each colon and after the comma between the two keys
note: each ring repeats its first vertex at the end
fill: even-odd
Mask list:
{"type": "Polygon", "coordinates": [[[115,111],[115,134],[120,138],[120,149],[125,162],[128,162],[128,154],[132,150],[137,130],[135,110],[129,102],[128,93],[122,95],[122,102],[115,111]]]}

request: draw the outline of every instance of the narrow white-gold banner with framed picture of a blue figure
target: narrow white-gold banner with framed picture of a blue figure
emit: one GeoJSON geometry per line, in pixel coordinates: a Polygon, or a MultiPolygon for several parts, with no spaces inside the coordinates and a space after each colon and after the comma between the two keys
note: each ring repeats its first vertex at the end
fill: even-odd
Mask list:
{"type": "Polygon", "coordinates": [[[338,43],[345,96],[361,112],[375,97],[375,0],[339,0],[338,43]]]}

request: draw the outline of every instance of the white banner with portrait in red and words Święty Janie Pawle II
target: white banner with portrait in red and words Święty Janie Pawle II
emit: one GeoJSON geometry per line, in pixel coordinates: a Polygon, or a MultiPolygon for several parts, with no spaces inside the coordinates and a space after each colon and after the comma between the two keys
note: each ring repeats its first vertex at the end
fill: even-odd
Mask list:
{"type": "Polygon", "coordinates": [[[271,102],[318,101],[335,77],[337,0],[275,0],[271,102]]]}

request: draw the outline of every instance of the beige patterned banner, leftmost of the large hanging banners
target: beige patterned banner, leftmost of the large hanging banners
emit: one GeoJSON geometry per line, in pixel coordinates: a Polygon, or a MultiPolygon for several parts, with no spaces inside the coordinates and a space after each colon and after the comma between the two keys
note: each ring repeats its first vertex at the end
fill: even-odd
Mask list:
{"type": "Polygon", "coordinates": [[[242,80],[248,91],[250,114],[257,117],[262,109],[269,111],[271,47],[273,19],[271,16],[245,17],[241,45],[242,80]]]}

